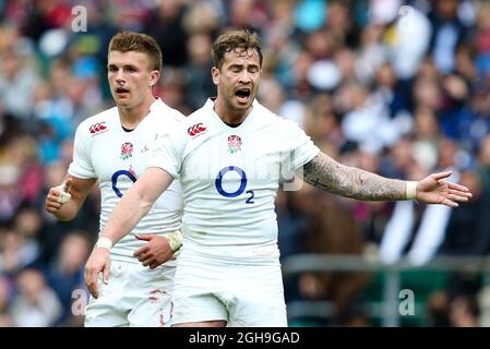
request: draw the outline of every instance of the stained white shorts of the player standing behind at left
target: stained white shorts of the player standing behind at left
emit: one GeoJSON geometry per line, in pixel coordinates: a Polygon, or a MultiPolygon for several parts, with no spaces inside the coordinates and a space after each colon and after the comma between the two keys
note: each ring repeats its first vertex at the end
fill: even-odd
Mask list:
{"type": "Polygon", "coordinates": [[[169,327],[176,267],[151,270],[140,263],[111,261],[109,282],[99,277],[99,296],[85,310],[86,327],[169,327]]]}

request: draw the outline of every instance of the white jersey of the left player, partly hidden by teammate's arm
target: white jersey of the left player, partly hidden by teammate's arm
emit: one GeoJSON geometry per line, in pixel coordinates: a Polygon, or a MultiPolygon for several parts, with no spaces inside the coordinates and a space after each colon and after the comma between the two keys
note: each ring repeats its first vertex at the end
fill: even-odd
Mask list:
{"type": "MultiPolygon", "coordinates": [[[[99,180],[101,194],[100,231],[124,192],[143,173],[157,143],[157,133],[186,118],[156,99],[150,113],[131,132],[122,129],[117,107],[84,120],[75,133],[73,161],[68,172],[77,178],[99,180]]],[[[168,233],[180,228],[182,193],[178,181],[157,200],[136,227],[111,249],[116,261],[140,263],[134,251],[145,244],[135,233],[168,233]]]]}

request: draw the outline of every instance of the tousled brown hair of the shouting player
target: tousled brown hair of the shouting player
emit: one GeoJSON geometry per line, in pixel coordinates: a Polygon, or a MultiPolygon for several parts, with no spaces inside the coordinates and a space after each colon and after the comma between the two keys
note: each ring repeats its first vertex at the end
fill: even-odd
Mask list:
{"type": "Polygon", "coordinates": [[[259,34],[249,29],[232,31],[220,35],[213,45],[213,63],[214,67],[220,69],[225,61],[225,55],[236,50],[254,49],[259,53],[260,65],[262,67],[262,49],[259,34]]]}

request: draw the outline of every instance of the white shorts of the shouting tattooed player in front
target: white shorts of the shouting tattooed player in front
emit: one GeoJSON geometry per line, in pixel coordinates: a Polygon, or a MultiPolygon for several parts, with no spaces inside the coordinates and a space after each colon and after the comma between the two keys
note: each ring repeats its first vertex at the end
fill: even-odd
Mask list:
{"type": "Polygon", "coordinates": [[[179,258],[172,324],[218,320],[234,327],[286,327],[280,266],[179,258]]]}

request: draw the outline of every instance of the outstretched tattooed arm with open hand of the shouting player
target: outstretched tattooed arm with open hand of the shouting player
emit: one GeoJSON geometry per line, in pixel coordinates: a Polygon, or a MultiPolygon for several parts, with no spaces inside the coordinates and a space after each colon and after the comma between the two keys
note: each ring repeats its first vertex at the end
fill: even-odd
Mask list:
{"type": "MultiPolygon", "coordinates": [[[[456,202],[471,197],[468,189],[444,179],[451,172],[433,173],[418,181],[416,200],[428,204],[457,207],[456,202]]],[[[316,188],[342,196],[364,201],[407,200],[407,181],[389,179],[355,167],[344,166],[320,153],[303,167],[303,180],[316,188]]],[[[415,183],[414,183],[415,184],[415,183]]]]}

